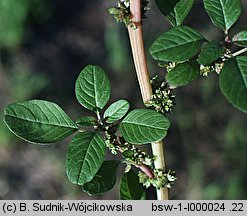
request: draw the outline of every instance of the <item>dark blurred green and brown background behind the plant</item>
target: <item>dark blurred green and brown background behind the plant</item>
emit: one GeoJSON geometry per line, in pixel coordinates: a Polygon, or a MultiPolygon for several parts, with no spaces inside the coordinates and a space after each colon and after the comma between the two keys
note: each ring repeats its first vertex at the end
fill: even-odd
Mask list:
{"type": "MultiPolygon", "coordinates": [[[[69,139],[39,147],[16,138],[3,123],[11,102],[33,98],[54,101],[72,119],[87,113],[74,94],[74,83],[87,64],[105,69],[111,102],[124,98],[141,108],[128,35],[107,8],[115,0],[0,0],[0,199],[118,199],[118,181],[103,196],[90,197],[66,178],[69,139]]],[[[231,35],[247,29],[247,3],[231,35]]],[[[146,48],[170,28],[153,1],[144,21],[146,48]]],[[[202,0],[185,20],[209,40],[222,40],[202,0]]],[[[150,73],[164,76],[147,52],[150,73]]],[[[211,74],[176,90],[165,140],[168,168],[178,180],[172,199],[247,198],[247,116],[222,96],[211,74]]],[[[146,149],[150,151],[150,149],[146,149]]],[[[109,156],[110,157],[110,156],[109,156]]],[[[152,190],[149,197],[154,198],[152,190]]]]}

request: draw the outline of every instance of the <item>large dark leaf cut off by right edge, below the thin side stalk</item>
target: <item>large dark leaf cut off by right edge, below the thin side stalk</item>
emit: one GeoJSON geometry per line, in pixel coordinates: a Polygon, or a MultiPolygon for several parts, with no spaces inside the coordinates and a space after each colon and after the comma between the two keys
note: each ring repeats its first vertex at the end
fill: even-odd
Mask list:
{"type": "Polygon", "coordinates": [[[220,89],[233,106],[247,112],[247,56],[225,63],[220,73],[220,89]]]}

